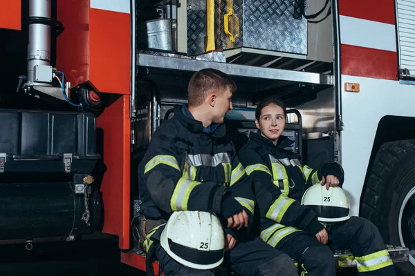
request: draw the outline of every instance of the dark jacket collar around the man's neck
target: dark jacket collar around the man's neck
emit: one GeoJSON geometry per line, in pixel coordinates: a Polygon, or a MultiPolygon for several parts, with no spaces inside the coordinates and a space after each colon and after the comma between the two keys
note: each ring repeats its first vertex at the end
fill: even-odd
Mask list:
{"type": "Polygon", "coordinates": [[[196,121],[185,105],[174,107],[174,117],[177,117],[178,121],[193,133],[205,133],[216,138],[223,137],[226,134],[224,124],[212,124],[208,128],[204,128],[202,122],[196,121]]]}

